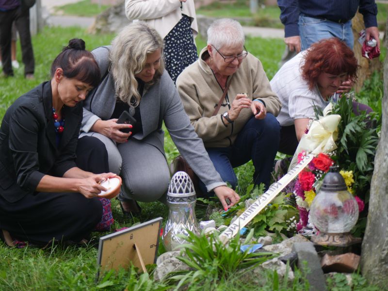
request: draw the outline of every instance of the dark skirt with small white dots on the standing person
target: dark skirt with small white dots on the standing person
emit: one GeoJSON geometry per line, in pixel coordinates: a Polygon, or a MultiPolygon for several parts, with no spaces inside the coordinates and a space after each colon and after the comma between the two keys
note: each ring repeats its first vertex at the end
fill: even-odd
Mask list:
{"type": "Polygon", "coordinates": [[[198,59],[190,25],[190,17],[182,14],[177,25],[164,37],[166,70],[174,84],[184,68],[198,59]]]}

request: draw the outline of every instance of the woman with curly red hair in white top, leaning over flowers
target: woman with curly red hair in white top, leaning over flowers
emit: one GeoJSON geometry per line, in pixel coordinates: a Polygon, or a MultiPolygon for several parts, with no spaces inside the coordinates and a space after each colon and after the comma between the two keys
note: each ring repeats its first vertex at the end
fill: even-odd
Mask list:
{"type": "MultiPolygon", "coordinates": [[[[282,108],[279,151],[293,155],[311,119],[314,107],[325,108],[357,79],[353,51],[338,38],[323,39],[284,64],[271,80],[282,108]]],[[[354,112],[372,109],[354,102],[354,112]]]]}

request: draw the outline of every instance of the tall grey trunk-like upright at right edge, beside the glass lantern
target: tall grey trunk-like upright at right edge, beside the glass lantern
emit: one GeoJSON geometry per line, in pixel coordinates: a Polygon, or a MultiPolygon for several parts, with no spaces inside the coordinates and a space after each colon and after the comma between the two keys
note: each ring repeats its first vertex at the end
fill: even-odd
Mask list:
{"type": "MultiPolygon", "coordinates": [[[[388,20],[387,20],[388,24],[388,20]]],[[[388,33],[388,25],[386,28],[388,33]]],[[[385,47],[388,46],[385,38],[385,47]]],[[[382,127],[374,158],[368,221],[362,242],[361,271],[368,280],[387,288],[388,285],[388,55],[384,61],[384,98],[382,127]]]]}

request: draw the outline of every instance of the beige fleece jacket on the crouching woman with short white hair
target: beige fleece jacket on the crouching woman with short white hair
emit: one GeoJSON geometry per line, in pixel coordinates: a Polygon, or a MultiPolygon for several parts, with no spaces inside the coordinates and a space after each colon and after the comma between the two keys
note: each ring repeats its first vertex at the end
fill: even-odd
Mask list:
{"type": "MultiPolygon", "coordinates": [[[[209,55],[207,48],[202,49],[198,61],[188,66],[178,76],[179,96],[195,132],[202,138],[206,147],[230,146],[253,113],[250,108],[242,109],[239,117],[227,127],[220,115],[229,109],[228,106],[221,106],[218,114],[212,116],[223,91],[209,65],[202,59],[204,54],[209,55]]],[[[275,116],[279,113],[281,107],[279,98],[272,91],[261,62],[252,54],[248,54],[237,72],[229,77],[227,82],[230,83],[227,93],[230,104],[237,94],[247,93],[251,99],[262,99],[267,113],[275,116]]]]}

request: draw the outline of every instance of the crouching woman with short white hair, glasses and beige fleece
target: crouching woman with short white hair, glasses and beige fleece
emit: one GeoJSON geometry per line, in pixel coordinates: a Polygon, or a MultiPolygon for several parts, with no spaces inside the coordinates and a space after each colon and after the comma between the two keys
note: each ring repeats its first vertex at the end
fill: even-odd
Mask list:
{"type": "Polygon", "coordinates": [[[214,21],[207,46],[199,60],[179,75],[177,87],[221,178],[235,188],[238,180],[233,168],[252,160],[254,184],[264,183],[268,188],[279,143],[275,116],[281,103],[244,41],[239,22],[214,21]]]}

